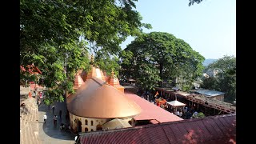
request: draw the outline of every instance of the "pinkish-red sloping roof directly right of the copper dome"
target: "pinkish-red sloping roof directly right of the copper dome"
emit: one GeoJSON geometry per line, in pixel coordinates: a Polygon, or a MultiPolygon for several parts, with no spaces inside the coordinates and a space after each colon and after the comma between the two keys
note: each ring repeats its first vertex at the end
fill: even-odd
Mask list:
{"type": "Polygon", "coordinates": [[[127,97],[131,98],[142,108],[141,114],[138,114],[134,117],[134,120],[151,120],[155,119],[158,122],[174,122],[174,121],[181,121],[182,118],[179,118],[175,114],[170,113],[162,109],[159,106],[154,105],[151,102],[146,101],[139,97],[136,94],[125,93],[127,97]]]}

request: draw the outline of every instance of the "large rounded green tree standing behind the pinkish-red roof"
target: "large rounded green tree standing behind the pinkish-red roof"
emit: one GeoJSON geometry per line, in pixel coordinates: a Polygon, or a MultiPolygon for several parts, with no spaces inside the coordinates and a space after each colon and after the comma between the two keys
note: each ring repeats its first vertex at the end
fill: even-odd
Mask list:
{"type": "Polygon", "coordinates": [[[124,51],[123,70],[128,70],[128,74],[137,78],[138,85],[149,83],[150,86],[144,85],[146,89],[157,86],[157,82],[158,86],[162,86],[164,81],[179,78],[178,86],[189,90],[194,79],[202,74],[202,55],[173,34],[143,34],[124,51]]]}

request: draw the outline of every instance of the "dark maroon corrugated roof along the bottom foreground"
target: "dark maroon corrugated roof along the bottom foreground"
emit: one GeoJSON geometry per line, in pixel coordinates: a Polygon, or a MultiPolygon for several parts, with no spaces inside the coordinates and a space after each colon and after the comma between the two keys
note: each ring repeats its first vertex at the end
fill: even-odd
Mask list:
{"type": "Polygon", "coordinates": [[[80,142],[82,144],[235,143],[236,115],[226,114],[120,130],[94,131],[82,134],[80,142]]]}

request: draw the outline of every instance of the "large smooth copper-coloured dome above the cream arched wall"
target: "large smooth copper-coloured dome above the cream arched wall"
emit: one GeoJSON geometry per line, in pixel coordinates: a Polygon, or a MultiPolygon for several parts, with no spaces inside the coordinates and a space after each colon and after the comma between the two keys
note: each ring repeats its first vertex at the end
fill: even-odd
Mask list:
{"type": "MultiPolygon", "coordinates": [[[[132,118],[140,114],[140,106],[113,86],[103,84],[91,90],[90,85],[85,82],[68,104],[71,114],[86,118],[132,118]]],[[[92,87],[95,88],[95,83],[92,87]]]]}

